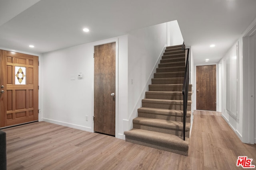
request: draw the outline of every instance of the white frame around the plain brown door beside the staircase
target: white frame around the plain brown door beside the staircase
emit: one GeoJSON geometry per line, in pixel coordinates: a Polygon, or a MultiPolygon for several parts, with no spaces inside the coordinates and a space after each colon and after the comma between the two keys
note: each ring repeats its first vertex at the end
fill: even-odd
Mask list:
{"type": "MultiPolygon", "coordinates": [[[[108,43],[116,43],[116,92],[115,92],[115,97],[116,97],[116,122],[115,122],[115,137],[118,138],[118,107],[119,107],[119,98],[118,98],[118,38],[110,39],[108,41],[100,41],[96,44],[93,45],[103,45],[103,44],[108,44],[108,43]]],[[[94,53],[94,48],[93,48],[93,53],[94,53]]],[[[94,66],[93,66],[94,70],[94,66]]],[[[93,72],[94,75],[94,72],[93,72]]],[[[95,76],[95,75],[94,75],[95,76]]],[[[92,86],[92,116],[94,116],[94,81],[93,81],[93,86],[92,86]]],[[[92,132],[94,132],[94,121],[92,121],[92,132]]]]}

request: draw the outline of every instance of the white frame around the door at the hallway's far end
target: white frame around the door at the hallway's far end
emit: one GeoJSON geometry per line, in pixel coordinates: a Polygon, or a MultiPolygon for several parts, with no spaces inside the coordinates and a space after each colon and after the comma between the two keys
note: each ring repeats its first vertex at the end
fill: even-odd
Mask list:
{"type": "Polygon", "coordinates": [[[206,66],[206,65],[216,65],[216,111],[218,110],[218,105],[219,105],[219,95],[218,95],[218,63],[204,63],[204,64],[195,64],[194,65],[194,90],[193,90],[193,103],[194,103],[194,108],[196,108],[196,66],[206,66]]]}

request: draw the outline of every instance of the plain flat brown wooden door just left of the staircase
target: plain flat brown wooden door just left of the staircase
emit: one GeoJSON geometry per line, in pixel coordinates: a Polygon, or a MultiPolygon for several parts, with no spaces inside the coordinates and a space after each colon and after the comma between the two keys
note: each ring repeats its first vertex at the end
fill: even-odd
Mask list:
{"type": "Polygon", "coordinates": [[[116,43],[94,47],[94,131],[115,135],[116,43]]]}

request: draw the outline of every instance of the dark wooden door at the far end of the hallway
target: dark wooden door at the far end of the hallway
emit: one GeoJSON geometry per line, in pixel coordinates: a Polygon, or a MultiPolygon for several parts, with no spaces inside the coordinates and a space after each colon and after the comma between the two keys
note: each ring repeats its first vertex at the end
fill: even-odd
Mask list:
{"type": "Polygon", "coordinates": [[[216,65],[196,66],[196,109],[216,111],[216,65]]]}

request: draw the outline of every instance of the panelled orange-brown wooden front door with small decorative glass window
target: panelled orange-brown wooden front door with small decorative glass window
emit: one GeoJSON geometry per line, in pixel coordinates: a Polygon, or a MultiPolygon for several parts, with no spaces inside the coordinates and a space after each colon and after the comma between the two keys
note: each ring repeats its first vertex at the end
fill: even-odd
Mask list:
{"type": "Polygon", "coordinates": [[[38,120],[38,57],[0,50],[0,127],[38,120]]]}

